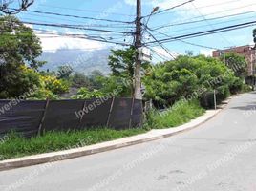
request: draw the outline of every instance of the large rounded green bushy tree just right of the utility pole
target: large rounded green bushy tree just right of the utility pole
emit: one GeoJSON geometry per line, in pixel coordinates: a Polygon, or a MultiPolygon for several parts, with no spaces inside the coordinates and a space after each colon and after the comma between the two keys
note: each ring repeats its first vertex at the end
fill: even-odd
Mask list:
{"type": "Polygon", "coordinates": [[[181,97],[202,98],[206,93],[217,90],[223,100],[232,93],[242,90],[242,79],[224,66],[223,62],[199,56],[179,56],[176,60],[158,64],[143,79],[147,99],[155,105],[173,105],[181,97]]]}

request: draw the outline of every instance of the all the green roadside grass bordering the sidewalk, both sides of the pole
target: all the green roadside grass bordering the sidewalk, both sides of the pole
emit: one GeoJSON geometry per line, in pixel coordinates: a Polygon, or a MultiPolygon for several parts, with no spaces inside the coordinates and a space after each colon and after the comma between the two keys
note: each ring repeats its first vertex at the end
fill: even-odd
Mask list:
{"type": "Polygon", "coordinates": [[[176,127],[203,115],[204,112],[198,101],[178,102],[177,106],[161,113],[158,111],[150,112],[147,122],[143,128],[139,129],[117,131],[98,127],[91,130],[46,132],[43,136],[35,138],[23,138],[18,134],[10,133],[6,136],[6,140],[0,143],[0,160],[82,147],[117,138],[135,136],[151,129],[176,127]]]}

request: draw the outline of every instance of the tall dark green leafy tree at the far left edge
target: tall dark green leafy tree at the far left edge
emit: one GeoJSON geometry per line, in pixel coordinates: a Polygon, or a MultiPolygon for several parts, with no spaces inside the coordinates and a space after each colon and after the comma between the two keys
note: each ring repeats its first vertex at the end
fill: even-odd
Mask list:
{"type": "Polygon", "coordinates": [[[20,96],[32,88],[24,66],[37,70],[44,64],[36,60],[41,53],[31,28],[13,16],[0,17],[0,98],[20,96]]]}

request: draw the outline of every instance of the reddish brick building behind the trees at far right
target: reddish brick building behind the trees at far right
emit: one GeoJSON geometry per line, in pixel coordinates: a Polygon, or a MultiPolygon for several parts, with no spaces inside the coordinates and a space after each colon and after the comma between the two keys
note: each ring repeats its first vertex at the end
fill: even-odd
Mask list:
{"type": "Polygon", "coordinates": [[[253,71],[253,68],[255,70],[256,66],[256,52],[252,49],[252,46],[245,45],[240,47],[232,47],[224,50],[217,50],[212,53],[213,57],[220,57],[224,56],[224,53],[238,53],[245,56],[245,59],[248,63],[248,75],[252,76],[255,74],[255,71],[253,71]]]}

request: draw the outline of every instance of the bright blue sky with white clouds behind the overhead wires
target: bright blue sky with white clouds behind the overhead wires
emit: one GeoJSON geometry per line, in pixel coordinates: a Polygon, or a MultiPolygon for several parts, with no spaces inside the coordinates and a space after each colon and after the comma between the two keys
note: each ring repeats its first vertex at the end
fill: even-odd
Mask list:
{"type": "MultiPolygon", "coordinates": [[[[142,15],[149,15],[151,11],[156,7],[159,7],[159,11],[163,11],[173,6],[180,5],[187,0],[141,1],[142,15]]],[[[119,24],[114,22],[95,21],[70,16],[64,17],[45,13],[36,13],[31,11],[55,12],[82,17],[94,17],[99,19],[132,22],[135,20],[136,0],[35,0],[35,3],[28,9],[28,11],[24,11],[17,15],[22,21],[26,22],[82,25],[88,28],[129,33],[134,32],[135,25],[133,23],[119,24]]],[[[166,35],[173,37],[193,32],[203,32],[216,28],[226,27],[229,25],[255,21],[255,19],[255,0],[195,0],[179,8],[152,15],[148,20],[148,28],[155,30],[151,31],[151,33],[158,40],[161,40],[165,39],[166,35]],[[234,14],[237,15],[235,16],[234,14]],[[190,24],[188,22],[190,22],[190,24]],[[165,28],[161,28],[162,26],[165,26],[165,28]]],[[[146,22],[147,19],[142,21],[146,22]]],[[[56,33],[61,32],[69,34],[73,33],[102,36],[104,39],[115,40],[125,44],[133,42],[133,38],[130,36],[130,34],[89,32],[80,29],[61,29],[37,26],[34,24],[30,24],[29,26],[35,30],[51,31],[56,33]]],[[[153,54],[156,59],[170,58],[170,53],[181,54],[186,53],[187,51],[192,51],[195,54],[203,53],[210,55],[213,49],[224,49],[224,47],[227,48],[252,44],[252,30],[254,27],[255,26],[251,26],[236,31],[210,34],[206,36],[185,39],[182,42],[172,41],[163,44],[163,46],[168,49],[169,53],[166,53],[166,51],[164,51],[160,46],[150,46],[150,48],[153,49],[153,54]],[[195,46],[194,44],[207,46],[209,48],[203,48],[203,46],[195,46]]],[[[48,37],[49,34],[47,34],[47,32],[36,32],[41,38],[43,50],[48,52],[53,52],[57,49],[81,49],[84,51],[92,51],[115,46],[113,44],[106,44],[86,39],[75,39],[64,36],[50,38],[48,37]]],[[[153,37],[150,36],[147,32],[143,32],[143,34],[144,42],[154,41],[153,37]]],[[[116,48],[120,47],[121,46],[116,46],[116,48]]]]}

